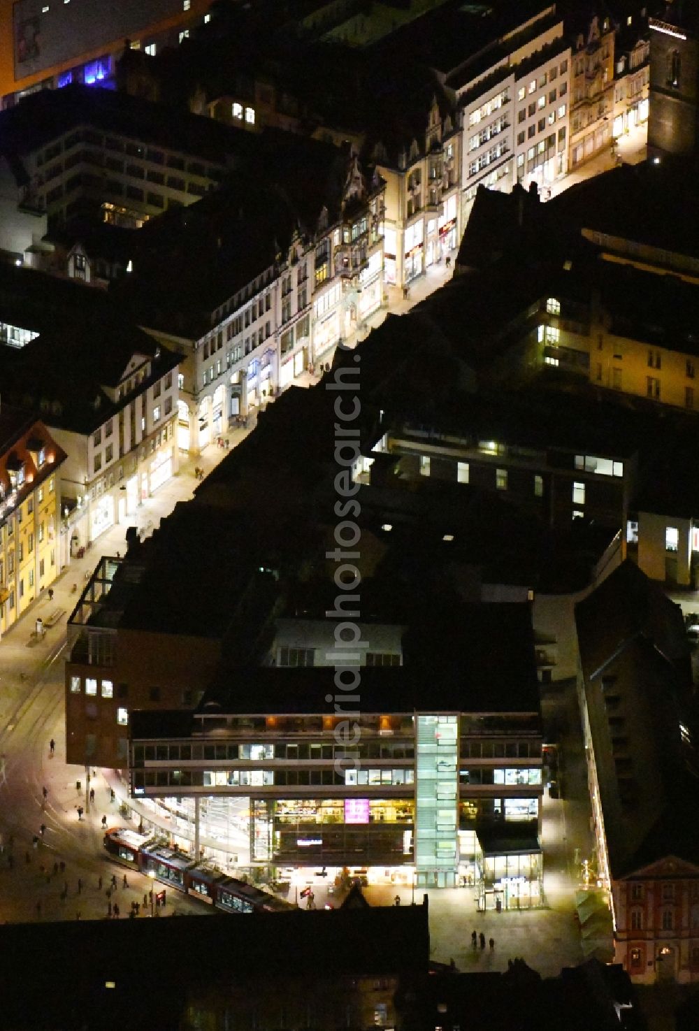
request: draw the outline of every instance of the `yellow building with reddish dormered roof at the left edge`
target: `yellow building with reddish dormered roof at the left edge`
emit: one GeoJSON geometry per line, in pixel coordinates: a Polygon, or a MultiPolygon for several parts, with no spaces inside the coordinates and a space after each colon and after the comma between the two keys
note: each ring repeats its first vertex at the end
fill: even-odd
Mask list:
{"type": "Polygon", "coordinates": [[[58,574],[57,469],[65,458],[43,423],[0,410],[0,633],[58,574]]]}

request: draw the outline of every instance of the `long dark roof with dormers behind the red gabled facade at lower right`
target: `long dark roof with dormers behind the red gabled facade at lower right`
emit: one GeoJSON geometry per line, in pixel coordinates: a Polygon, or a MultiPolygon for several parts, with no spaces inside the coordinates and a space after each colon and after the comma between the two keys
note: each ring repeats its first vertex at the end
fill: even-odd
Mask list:
{"type": "Polygon", "coordinates": [[[612,877],[667,855],[699,860],[676,811],[699,803],[679,607],[627,560],[575,606],[575,623],[612,877]]]}

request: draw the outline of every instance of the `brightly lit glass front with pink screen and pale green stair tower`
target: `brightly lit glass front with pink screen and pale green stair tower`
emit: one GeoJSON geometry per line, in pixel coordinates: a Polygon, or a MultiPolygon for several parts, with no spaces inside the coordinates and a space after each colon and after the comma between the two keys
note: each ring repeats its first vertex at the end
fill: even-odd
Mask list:
{"type": "Polygon", "coordinates": [[[178,839],[220,862],[539,904],[538,713],[362,712],[351,749],[340,717],[203,711],[187,736],[168,717],[132,713],[131,794],[168,804],[178,839]]]}

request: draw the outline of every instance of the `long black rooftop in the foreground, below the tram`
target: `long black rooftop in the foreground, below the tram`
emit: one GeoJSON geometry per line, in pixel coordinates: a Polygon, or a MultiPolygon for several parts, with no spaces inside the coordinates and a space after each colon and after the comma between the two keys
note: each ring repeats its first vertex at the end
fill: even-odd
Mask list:
{"type": "Polygon", "coordinates": [[[0,927],[0,1027],[46,1027],[48,1020],[89,1031],[174,1028],[190,993],[196,998],[232,987],[260,993],[270,977],[312,985],[353,975],[409,976],[429,962],[426,904],[249,913],[244,921],[244,928],[230,916],[6,924],[0,927]],[[52,961],[37,961],[46,950],[52,961]],[[186,961],[193,956],[206,962],[186,961]]]}

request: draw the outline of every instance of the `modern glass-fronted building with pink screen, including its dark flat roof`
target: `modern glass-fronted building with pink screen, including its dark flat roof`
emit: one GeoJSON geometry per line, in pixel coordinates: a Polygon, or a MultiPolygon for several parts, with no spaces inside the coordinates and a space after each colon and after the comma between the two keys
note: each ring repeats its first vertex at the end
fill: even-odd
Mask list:
{"type": "Polygon", "coordinates": [[[352,695],[333,687],[329,667],[241,669],[222,674],[190,716],[133,712],[131,794],[176,795],[180,810],[189,801],[196,849],[209,836],[202,799],[249,799],[253,865],[469,886],[481,908],[540,904],[529,606],[462,614],[463,662],[458,672],[436,667],[429,691],[417,666],[362,668],[352,695]]]}

